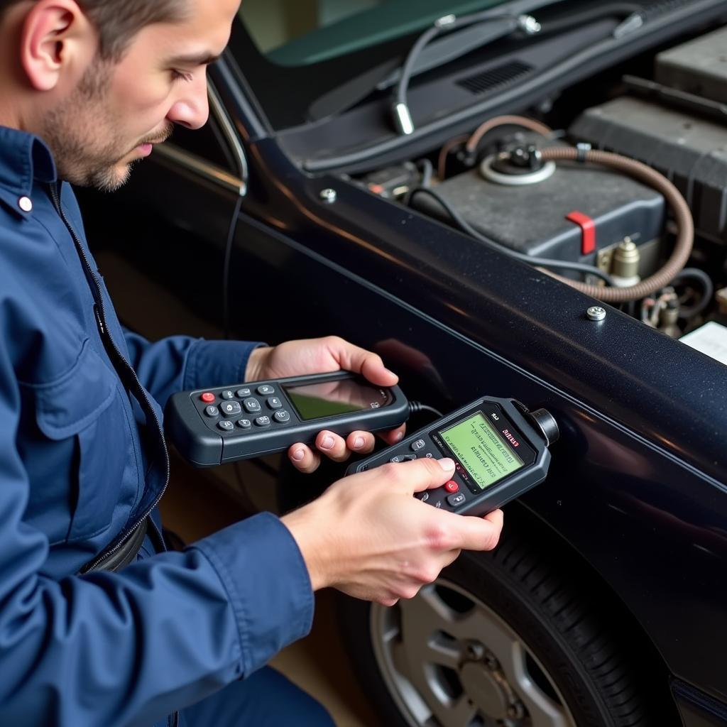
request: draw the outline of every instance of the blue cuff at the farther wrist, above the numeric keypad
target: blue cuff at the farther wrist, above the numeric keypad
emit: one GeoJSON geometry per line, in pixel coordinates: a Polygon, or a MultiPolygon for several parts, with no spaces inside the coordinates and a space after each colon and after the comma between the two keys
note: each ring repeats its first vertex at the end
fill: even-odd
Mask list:
{"type": "Polygon", "coordinates": [[[195,341],[187,355],[183,388],[204,389],[241,384],[250,354],[264,343],[195,341]]]}

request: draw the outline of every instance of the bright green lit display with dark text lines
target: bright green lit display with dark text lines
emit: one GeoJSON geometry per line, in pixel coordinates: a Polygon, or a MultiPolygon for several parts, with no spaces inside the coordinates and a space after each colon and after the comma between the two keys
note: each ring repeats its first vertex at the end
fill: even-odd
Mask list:
{"type": "Polygon", "coordinates": [[[481,411],[440,434],[480,489],[525,466],[481,411]]]}

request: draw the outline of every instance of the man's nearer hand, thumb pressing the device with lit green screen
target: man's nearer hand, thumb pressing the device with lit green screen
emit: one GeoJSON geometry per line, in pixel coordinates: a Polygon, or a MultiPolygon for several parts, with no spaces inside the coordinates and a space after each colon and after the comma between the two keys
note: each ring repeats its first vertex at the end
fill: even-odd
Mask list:
{"type": "Polygon", "coordinates": [[[453,474],[451,459],[384,465],[337,481],[315,502],[285,515],[313,589],[333,586],[393,606],[414,598],[460,550],[492,550],[502,531],[501,510],[475,518],[412,497],[453,474]]]}

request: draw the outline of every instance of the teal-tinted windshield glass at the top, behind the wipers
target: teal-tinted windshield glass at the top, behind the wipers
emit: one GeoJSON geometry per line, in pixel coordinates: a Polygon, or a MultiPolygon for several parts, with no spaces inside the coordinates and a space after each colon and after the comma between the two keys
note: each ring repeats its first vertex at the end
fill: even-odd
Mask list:
{"type": "Polygon", "coordinates": [[[244,0],[240,15],[257,49],[278,65],[320,63],[422,31],[443,15],[504,0],[244,0]]]}

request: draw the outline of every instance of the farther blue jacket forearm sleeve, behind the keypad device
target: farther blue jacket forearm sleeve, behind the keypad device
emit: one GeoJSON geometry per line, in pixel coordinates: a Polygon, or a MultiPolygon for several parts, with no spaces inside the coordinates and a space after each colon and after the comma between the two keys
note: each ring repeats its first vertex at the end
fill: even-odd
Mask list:
{"type": "Polygon", "coordinates": [[[150,343],[124,329],[129,360],[162,408],[177,391],[241,383],[250,353],[262,343],[172,336],[150,343]]]}

